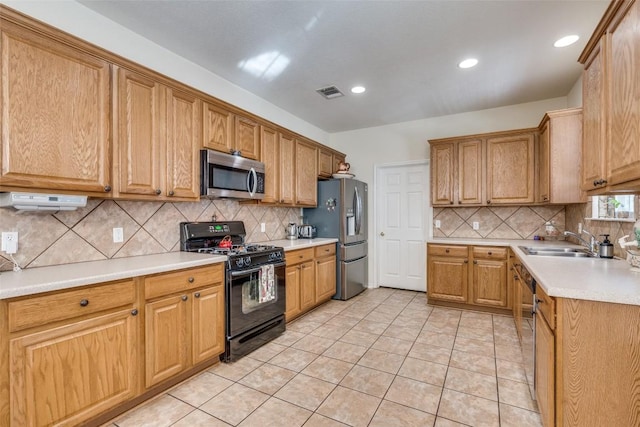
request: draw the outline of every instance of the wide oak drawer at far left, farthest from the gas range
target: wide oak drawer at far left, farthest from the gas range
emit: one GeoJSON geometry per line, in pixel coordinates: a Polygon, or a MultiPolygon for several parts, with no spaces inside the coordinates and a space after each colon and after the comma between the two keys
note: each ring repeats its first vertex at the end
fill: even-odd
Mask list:
{"type": "Polygon", "coordinates": [[[133,304],[135,298],[134,282],[126,280],[11,301],[9,302],[9,330],[15,332],[133,304]]]}

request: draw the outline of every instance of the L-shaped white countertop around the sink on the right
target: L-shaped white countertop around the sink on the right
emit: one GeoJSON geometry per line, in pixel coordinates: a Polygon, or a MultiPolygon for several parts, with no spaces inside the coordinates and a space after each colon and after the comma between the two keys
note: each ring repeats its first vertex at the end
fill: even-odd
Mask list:
{"type": "Polygon", "coordinates": [[[520,246],[573,246],[566,241],[429,239],[429,243],[510,246],[547,295],[640,305],[640,273],[620,259],[527,255],[520,246]]]}

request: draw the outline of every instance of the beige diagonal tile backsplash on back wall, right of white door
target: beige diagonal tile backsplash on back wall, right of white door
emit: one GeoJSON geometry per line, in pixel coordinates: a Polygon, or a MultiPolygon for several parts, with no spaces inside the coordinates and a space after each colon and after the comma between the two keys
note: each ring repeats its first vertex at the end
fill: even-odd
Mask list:
{"type": "Polygon", "coordinates": [[[471,239],[533,239],[545,235],[545,223],[565,229],[564,206],[434,208],[433,236],[471,239]],[[440,228],[435,228],[436,220],[440,228]],[[473,229],[473,223],[479,229],[473,229]]]}

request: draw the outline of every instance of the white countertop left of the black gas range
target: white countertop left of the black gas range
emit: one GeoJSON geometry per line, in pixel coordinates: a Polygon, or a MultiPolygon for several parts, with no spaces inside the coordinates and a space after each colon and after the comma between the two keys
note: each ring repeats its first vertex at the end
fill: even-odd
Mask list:
{"type": "Polygon", "coordinates": [[[226,260],[226,256],[219,255],[169,252],[3,272],[0,273],[0,299],[199,267],[226,260]]]}

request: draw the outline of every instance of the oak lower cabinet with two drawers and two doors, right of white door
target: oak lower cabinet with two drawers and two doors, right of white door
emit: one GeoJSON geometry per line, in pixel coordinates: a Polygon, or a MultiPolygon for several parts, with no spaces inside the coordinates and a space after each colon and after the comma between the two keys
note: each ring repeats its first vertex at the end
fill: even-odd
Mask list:
{"type": "Polygon", "coordinates": [[[504,310],[511,307],[508,248],[427,245],[427,299],[504,310]]]}

